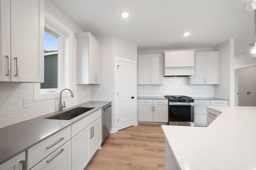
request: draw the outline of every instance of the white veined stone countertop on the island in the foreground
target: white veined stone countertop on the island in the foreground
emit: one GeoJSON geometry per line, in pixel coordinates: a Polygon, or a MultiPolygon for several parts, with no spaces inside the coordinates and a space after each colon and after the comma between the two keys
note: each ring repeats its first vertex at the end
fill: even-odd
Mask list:
{"type": "Polygon", "coordinates": [[[208,127],[162,125],[182,170],[256,170],[256,107],[207,106],[208,127]]]}

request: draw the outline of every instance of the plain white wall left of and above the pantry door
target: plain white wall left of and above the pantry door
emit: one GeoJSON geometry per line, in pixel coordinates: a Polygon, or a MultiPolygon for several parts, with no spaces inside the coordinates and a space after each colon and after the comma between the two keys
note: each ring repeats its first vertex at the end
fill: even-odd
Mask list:
{"type": "MultiPolygon", "coordinates": [[[[91,86],[92,100],[112,101],[112,130],[117,131],[118,115],[115,111],[115,61],[116,57],[137,61],[137,45],[118,37],[96,37],[102,44],[102,83],[91,86]]],[[[137,67],[136,67],[137,68],[137,67]]],[[[137,73],[136,73],[137,74],[137,73]]],[[[136,79],[137,80],[137,79],[136,79]]],[[[134,86],[137,87],[137,82],[134,86]]],[[[137,92],[137,90],[136,90],[137,92]]]]}

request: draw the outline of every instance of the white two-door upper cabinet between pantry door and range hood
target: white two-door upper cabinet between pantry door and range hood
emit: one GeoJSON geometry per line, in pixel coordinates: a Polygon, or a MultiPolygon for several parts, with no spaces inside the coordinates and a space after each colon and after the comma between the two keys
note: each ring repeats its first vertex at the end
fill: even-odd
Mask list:
{"type": "Polygon", "coordinates": [[[139,55],[138,74],[138,84],[163,84],[163,55],[139,55]]]}

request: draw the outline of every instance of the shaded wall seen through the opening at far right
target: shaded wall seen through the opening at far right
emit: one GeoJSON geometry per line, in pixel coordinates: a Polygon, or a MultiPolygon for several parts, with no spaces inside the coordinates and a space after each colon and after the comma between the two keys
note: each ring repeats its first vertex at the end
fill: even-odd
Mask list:
{"type": "Polygon", "coordinates": [[[256,106],[256,66],[238,69],[238,106],[256,106]],[[252,95],[246,95],[252,91],[252,95]]]}

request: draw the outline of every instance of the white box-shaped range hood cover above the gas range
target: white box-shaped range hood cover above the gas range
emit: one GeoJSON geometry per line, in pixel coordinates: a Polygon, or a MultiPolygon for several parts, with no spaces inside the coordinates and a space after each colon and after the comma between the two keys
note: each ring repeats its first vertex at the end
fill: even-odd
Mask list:
{"type": "Polygon", "coordinates": [[[194,75],[194,51],[164,51],[164,76],[194,75]]]}

